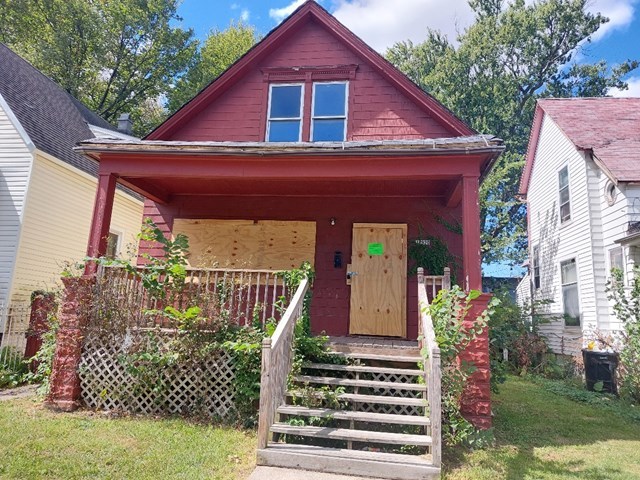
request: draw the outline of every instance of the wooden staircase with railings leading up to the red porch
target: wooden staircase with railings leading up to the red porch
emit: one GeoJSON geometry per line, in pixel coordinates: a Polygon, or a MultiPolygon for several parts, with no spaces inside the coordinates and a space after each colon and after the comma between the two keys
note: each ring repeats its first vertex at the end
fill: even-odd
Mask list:
{"type": "MultiPolygon", "coordinates": [[[[330,343],[330,361],[307,363],[287,381],[293,325],[307,288],[301,284],[262,345],[258,465],[395,480],[440,478],[440,350],[424,307],[427,279],[444,287],[448,276],[426,277],[420,270],[423,348],[407,341],[390,347],[382,341],[330,343]]],[[[432,289],[435,294],[435,283],[432,289]]]]}

